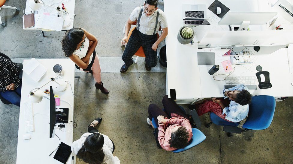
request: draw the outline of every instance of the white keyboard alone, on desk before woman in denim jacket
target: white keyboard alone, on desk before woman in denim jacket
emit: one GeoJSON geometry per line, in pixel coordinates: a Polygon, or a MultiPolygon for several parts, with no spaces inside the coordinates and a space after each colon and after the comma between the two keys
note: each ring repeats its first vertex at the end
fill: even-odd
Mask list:
{"type": "Polygon", "coordinates": [[[256,85],[256,78],[254,76],[247,77],[227,77],[226,85],[256,85]]]}

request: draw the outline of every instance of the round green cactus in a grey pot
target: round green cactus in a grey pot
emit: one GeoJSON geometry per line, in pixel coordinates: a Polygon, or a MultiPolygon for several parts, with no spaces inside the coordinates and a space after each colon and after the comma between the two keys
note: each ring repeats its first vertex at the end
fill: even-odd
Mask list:
{"type": "Polygon", "coordinates": [[[195,36],[195,33],[192,27],[183,26],[180,28],[178,32],[177,39],[178,39],[178,42],[180,42],[183,45],[186,45],[192,41],[194,36],[195,36]]]}

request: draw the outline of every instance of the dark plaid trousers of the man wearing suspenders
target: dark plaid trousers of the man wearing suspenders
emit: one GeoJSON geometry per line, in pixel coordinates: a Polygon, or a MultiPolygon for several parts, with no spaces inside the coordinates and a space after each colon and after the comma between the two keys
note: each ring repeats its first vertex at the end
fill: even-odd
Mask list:
{"type": "Polygon", "coordinates": [[[133,30],[125,50],[122,55],[122,60],[126,65],[132,64],[132,56],[137,52],[140,46],[146,55],[146,64],[150,67],[157,65],[157,51],[152,49],[153,44],[157,41],[157,35],[146,35],[139,32],[137,29],[133,30]]]}

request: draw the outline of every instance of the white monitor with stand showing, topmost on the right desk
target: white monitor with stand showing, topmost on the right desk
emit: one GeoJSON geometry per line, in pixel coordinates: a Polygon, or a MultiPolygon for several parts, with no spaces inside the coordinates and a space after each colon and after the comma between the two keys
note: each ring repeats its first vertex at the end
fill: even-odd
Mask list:
{"type": "Polygon", "coordinates": [[[228,12],[218,22],[223,25],[240,25],[238,30],[247,30],[250,25],[263,25],[273,19],[275,12],[228,12]]]}

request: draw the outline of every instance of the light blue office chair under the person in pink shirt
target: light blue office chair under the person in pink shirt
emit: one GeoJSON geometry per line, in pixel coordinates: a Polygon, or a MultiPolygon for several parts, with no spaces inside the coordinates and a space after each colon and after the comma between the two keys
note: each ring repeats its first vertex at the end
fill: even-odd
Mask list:
{"type": "MultiPolygon", "coordinates": [[[[186,114],[184,108],[182,106],[179,106],[179,107],[186,114]]],[[[165,111],[165,109],[163,109],[163,111],[165,111]]],[[[182,151],[186,151],[186,150],[200,144],[201,142],[203,142],[206,139],[206,136],[200,130],[197,129],[197,128],[201,127],[201,121],[198,117],[198,114],[196,113],[195,110],[190,111],[190,114],[193,119],[191,122],[192,127],[196,127],[196,128],[192,128],[192,138],[189,141],[189,144],[185,148],[173,150],[172,152],[174,152],[174,153],[180,153],[182,151]]],[[[159,148],[161,148],[161,145],[158,141],[158,133],[159,133],[158,127],[159,127],[159,125],[155,122],[154,118],[152,119],[152,123],[155,128],[154,135],[155,135],[155,140],[156,140],[157,146],[159,148]]]]}

